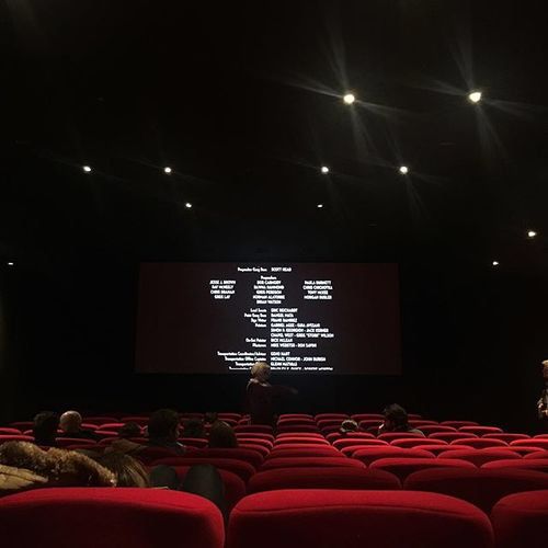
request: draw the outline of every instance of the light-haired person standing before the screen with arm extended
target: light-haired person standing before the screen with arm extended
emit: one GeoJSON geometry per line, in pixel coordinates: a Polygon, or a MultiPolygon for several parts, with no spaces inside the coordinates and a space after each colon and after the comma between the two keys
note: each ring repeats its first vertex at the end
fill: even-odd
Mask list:
{"type": "Polygon", "coordinates": [[[277,397],[297,395],[295,388],[271,385],[271,366],[266,362],[256,362],[251,367],[251,379],[248,383],[247,397],[251,424],[275,426],[274,403],[277,397]]]}

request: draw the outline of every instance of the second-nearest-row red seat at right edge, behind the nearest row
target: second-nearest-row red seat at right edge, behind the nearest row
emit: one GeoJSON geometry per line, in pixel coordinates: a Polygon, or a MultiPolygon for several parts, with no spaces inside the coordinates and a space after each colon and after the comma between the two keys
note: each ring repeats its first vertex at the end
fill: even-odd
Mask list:
{"type": "Polygon", "coordinates": [[[548,489],[548,475],[512,468],[431,468],[408,476],[403,489],[456,496],[489,514],[507,494],[548,489]]]}

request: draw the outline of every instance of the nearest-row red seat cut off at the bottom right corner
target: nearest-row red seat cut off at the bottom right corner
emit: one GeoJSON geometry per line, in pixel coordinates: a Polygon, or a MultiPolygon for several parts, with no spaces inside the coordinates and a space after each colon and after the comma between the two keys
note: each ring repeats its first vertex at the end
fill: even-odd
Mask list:
{"type": "Polygon", "coordinates": [[[548,538],[548,489],[501,499],[491,512],[496,548],[545,548],[548,538]]]}

